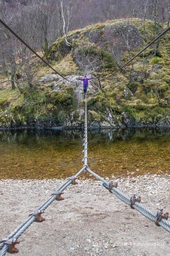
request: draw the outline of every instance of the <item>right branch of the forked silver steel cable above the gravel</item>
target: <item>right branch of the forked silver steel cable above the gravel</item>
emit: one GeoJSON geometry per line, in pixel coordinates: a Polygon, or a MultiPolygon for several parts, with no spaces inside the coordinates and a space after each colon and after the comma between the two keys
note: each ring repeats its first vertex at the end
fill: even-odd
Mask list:
{"type": "MultiPolygon", "coordinates": [[[[109,182],[100,177],[95,172],[91,171],[91,169],[86,169],[89,173],[93,174],[97,179],[101,180],[104,183],[105,188],[108,189],[109,182]]],[[[113,187],[111,189],[112,193],[116,195],[120,200],[122,200],[124,203],[130,206],[130,197],[124,194],[122,191],[119,190],[119,188],[113,187]]],[[[155,222],[156,219],[156,213],[153,211],[150,211],[146,206],[142,205],[142,203],[135,202],[133,207],[140,212],[142,215],[144,215],[146,218],[150,219],[151,221],[155,222]]],[[[164,229],[170,232],[170,221],[167,221],[166,219],[162,218],[161,221],[159,221],[159,225],[164,229]]]]}

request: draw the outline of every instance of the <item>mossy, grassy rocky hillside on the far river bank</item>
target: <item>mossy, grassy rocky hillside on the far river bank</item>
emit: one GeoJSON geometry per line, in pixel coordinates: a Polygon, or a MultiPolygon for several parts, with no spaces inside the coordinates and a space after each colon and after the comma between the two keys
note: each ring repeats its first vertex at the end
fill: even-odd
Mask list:
{"type": "Polygon", "coordinates": [[[59,38],[50,47],[49,59],[74,83],[39,64],[34,91],[15,91],[14,97],[0,91],[0,127],[81,127],[84,95],[78,78],[84,74],[95,78],[88,88],[91,127],[169,127],[170,33],[116,76],[102,80],[160,31],[152,21],[130,19],[71,32],[67,39],[72,47],[59,38]]]}

